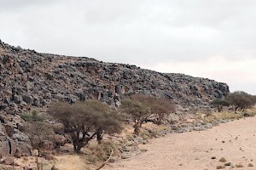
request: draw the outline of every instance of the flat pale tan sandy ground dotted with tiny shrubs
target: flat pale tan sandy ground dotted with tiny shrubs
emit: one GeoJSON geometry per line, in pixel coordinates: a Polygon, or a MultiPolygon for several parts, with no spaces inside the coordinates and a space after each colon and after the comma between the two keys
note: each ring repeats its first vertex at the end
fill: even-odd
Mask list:
{"type": "Polygon", "coordinates": [[[231,162],[234,169],[256,169],[256,116],[220,124],[206,131],[168,134],[141,148],[148,151],[102,169],[210,170],[224,165],[219,161],[222,157],[231,162]],[[255,167],[248,167],[249,163],[255,167]],[[238,168],[236,164],[244,167],[238,168]]]}

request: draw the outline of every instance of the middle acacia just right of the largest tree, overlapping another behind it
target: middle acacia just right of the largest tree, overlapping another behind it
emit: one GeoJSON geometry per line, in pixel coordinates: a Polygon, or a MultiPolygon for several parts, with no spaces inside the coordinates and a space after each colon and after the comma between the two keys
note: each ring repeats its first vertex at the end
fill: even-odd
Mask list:
{"type": "Polygon", "coordinates": [[[143,105],[143,103],[136,98],[124,99],[122,101],[121,110],[133,120],[134,133],[136,135],[139,134],[143,122],[151,115],[150,108],[147,105],[143,105]]]}

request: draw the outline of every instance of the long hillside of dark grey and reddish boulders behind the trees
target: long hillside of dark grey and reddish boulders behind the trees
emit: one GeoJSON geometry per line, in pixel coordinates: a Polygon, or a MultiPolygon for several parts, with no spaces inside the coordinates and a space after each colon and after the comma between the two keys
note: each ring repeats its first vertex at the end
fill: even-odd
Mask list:
{"type": "Polygon", "coordinates": [[[209,100],[229,93],[227,84],[206,78],[85,57],[40,54],[1,40],[0,73],[0,155],[30,154],[28,138],[19,130],[19,114],[33,107],[44,108],[52,101],[102,99],[119,106],[126,95],[152,94],[173,99],[177,112],[182,113],[208,110],[209,100]]]}

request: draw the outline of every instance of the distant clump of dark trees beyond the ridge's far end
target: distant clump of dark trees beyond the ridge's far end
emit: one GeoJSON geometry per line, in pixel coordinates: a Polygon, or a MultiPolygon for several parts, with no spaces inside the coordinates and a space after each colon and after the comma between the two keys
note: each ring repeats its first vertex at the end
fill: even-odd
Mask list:
{"type": "Polygon", "coordinates": [[[224,99],[213,100],[211,104],[218,110],[218,112],[223,111],[224,108],[231,108],[235,112],[240,110],[244,111],[256,104],[256,96],[242,91],[236,91],[230,93],[224,99]]]}

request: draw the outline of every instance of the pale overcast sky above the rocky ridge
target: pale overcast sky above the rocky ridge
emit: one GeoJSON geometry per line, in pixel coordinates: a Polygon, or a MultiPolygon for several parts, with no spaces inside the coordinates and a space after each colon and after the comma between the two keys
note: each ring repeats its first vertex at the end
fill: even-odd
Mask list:
{"type": "Polygon", "coordinates": [[[253,0],[0,0],[0,39],[256,94],[253,0]]]}

